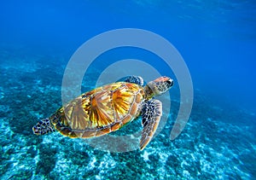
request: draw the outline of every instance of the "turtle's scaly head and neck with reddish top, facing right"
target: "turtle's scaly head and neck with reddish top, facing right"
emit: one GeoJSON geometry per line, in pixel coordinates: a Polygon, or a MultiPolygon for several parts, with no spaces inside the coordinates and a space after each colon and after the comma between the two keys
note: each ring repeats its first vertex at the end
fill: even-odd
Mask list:
{"type": "Polygon", "coordinates": [[[170,90],[173,85],[172,78],[168,78],[166,76],[162,76],[160,78],[156,78],[154,81],[150,81],[146,87],[145,91],[148,97],[159,96],[165,93],[167,90],[170,90]]]}

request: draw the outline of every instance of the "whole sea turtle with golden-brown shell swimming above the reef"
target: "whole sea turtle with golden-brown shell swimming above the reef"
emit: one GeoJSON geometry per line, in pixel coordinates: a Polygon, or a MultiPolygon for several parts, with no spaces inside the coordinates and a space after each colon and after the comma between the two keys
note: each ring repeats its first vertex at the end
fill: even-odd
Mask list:
{"type": "Polygon", "coordinates": [[[102,136],[142,115],[140,149],[150,142],[162,115],[162,103],[154,99],[169,90],[173,80],[156,78],[143,87],[143,78],[130,76],[122,82],[90,90],[59,108],[32,127],[36,135],[59,131],[64,136],[89,138],[102,136]]]}

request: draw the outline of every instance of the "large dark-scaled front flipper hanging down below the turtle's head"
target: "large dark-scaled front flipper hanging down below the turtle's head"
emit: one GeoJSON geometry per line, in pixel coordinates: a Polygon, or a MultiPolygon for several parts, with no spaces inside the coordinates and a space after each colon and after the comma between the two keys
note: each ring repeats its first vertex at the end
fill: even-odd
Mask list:
{"type": "Polygon", "coordinates": [[[144,103],[142,109],[143,134],[140,141],[140,149],[146,148],[148,142],[154,136],[162,115],[162,103],[159,100],[149,100],[144,103]]]}

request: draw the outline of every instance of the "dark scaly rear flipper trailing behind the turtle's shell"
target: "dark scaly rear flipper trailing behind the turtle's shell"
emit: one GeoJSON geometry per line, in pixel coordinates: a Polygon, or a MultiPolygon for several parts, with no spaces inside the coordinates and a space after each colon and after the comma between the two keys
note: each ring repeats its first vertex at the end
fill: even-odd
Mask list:
{"type": "Polygon", "coordinates": [[[32,131],[36,135],[45,135],[55,131],[55,128],[50,123],[50,120],[47,118],[47,119],[40,120],[37,125],[34,125],[32,127],[32,131]]]}

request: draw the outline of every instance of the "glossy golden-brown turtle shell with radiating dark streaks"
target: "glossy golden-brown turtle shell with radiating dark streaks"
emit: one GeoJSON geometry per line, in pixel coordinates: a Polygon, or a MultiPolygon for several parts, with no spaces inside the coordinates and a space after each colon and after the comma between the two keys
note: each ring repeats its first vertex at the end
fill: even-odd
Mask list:
{"type": "Polygon", "coordinates": [[[58,109],[50,120],[64,136],[102,136],[137,118],[143,100],[143,87],[137,84],[108,84],[75,98],[58,109]]]}

